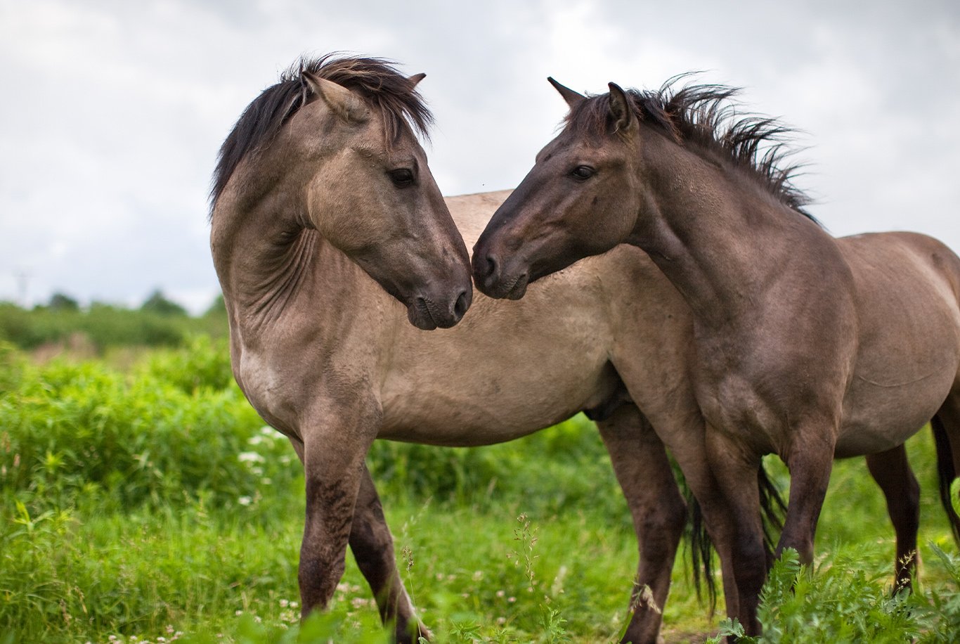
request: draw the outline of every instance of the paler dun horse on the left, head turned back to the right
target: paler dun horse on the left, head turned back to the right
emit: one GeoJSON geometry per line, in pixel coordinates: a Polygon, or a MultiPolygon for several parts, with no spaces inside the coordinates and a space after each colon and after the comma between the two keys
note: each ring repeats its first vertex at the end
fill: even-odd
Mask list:
{"type": "MultiPolygon", "coordinates": [[[[656,271],[629,248],[545,280],[522,305],[474,298],[463,239],[509,191],[444,203],[414,135],[430,121],[420,78],[384,60],[304,60],[243,112],[214,174],[210,243],[233,374],[305,472],[302,616],[328,604],[349,546],[396,640],[429,636],[364,463],[372,441],[510,441],[586,410],[636,527],[628,635],[656,641],[686,510],[650,422],[703,431],[674,367],[683,323],[636,311],[642,294],[611,297],[656,271]]],[[[660,285],[643,292],[680,303],[660,285]]],[[[675,452],[690,458],[683,444],[675,452]]]]}

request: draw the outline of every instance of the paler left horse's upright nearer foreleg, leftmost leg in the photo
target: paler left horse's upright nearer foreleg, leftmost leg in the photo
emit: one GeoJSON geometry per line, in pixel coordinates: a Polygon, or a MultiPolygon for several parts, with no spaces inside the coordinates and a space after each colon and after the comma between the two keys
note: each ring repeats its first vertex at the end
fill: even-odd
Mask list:
{"type": "Polygon", "coordinates": [[[371,428],[376,427],[365,411],[353,410],[351,422],[336,422],[338,415],[324,410],[312,415],[318,421],[303,432],[306,521],[298,572],[303,618],[326,608],[344,574],[364,457],[373,440],[371,428]]]}

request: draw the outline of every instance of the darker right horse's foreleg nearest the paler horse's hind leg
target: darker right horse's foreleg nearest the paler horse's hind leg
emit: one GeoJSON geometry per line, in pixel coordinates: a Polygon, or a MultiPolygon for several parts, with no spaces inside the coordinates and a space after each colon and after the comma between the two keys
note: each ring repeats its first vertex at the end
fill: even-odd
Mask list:
{"type": "MultiPolygon", "coordinates": [[[[763,523],[760,515],[760,493],[756,472],[760,465],[759,456],[749,453],[727,435],[707,428],[707,454],[710,474],[724,497],[727,516],[718,517],[726,529],[723,537],[729,539],[725,548],[730,553],[724,573],[733,578],[735,604],[731,606],[730,584],[724,583],[727,597],[728,615],[739,619],[748,635],[758,635],[759,622],[756,620],[756,608],[759,604],[760,589],[767,576],[767,552],[763,544],[763,523]],[[730,572],[728,573],[728,566],[730,572]]],[[[682,464],[683,465],[683,464],[682,464]]],[[[686,469],[684,469],[685,473],[686,469]]],[[[689,481],[689,476],[687,480],[689,481]]],[[[694,493],[697,490],[694,489],[694,493]]],[[[698,496],[698,500],[699,500],[698,496]]],[[[708,525],[708,507],[701,500],[708,525]]],[[[714,539],[721,562],[724,553],[714,539]]]]}

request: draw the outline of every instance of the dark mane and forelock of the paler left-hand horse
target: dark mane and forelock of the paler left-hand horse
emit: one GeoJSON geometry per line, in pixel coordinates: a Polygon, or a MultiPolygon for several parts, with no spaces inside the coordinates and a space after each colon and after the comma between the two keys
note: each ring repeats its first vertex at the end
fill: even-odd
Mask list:
{"type": "Polygon", "coordinates": [[[210,188],[211,212],[240,161],[269,145],[283,124],[309,102],[304,71],[344,85],[364,97],[381,114],[388,143],[396,140],[404,125],[425,136],[433,122],[416,83],[397,71],[390,60],[335,58],[331,54],[301,59],[280,75],[279,83],[253,99],[220,147],[210,188]]]}

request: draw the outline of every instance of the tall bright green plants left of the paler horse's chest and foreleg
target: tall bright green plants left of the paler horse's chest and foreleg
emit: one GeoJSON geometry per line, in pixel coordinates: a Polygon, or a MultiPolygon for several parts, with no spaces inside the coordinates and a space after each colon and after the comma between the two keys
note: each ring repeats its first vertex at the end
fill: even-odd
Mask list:
{"type": "Polygon", "coordinates": [[[298,467],[228,376],[226,346],[197,340],[123,374],[54,361],[0,395],[0,486],[39,506],[106,494],[118,507],[206,497],[251,503],[298,467]]]}

